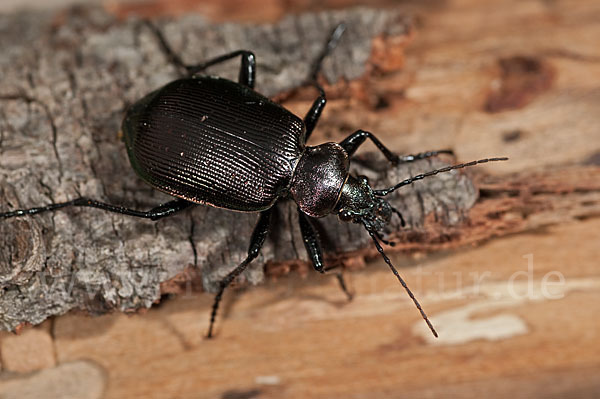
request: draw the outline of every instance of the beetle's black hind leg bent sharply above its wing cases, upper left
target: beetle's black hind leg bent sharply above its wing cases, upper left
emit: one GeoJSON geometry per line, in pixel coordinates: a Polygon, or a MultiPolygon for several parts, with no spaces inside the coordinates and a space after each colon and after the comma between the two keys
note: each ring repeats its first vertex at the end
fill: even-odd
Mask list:
{"type": "Polygon", "coordinates": [[[166,54],[167,58],[169,59],[169,62],[175,65],[180,70],[180,72],[183,72],[184,76],[193,76],[199,72],[204,71],[210,66],[220,64],[232,58],[241,56],[242,62],[240,66],[238,82],[250,88],[254,88],[254,83],[256,81],[256,57],[254,56],[253,52],[247,50],[237,50],[210,59],[201,64],[188,65],[183,62],[181,57],[177,53],[175,53],[175,51],[173,51],[173,49],[165,39],[165,36],[157,26],[152,24],[150,21],[144,21],[144,24],[148,26],[150,30],[152,30],[154,35],[157,37],[158,42],[160,43],[160,47],[166,54]]]}

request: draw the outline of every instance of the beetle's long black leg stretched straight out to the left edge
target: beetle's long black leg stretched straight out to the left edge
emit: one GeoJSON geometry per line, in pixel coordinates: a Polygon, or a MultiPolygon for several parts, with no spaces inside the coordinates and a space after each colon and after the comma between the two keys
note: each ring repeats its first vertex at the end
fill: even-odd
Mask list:
{"type": "Polygon", "coordinates": [[[165,204],[159,205],[155,208],[152,208],[149,211],[139,211],[135,209],[125,208],[122,206],[107,204],[105,202],[96,201],[90,198],[81,197],[71,201],[59,202],[56,204],[49,204],[36,208],[18,209],[15,211],[0,213],[0,219],[26,215],[36,215],[38,213],[55,211],[58,209],[67,208],[69,206],[85,206],[89,208],[102,209],[108,212],[120,213],[122,215],[158,220],[194,205],[196,204],[194,204],[193,202],[189,202],[183,199],[176,199],[165,204]]]}

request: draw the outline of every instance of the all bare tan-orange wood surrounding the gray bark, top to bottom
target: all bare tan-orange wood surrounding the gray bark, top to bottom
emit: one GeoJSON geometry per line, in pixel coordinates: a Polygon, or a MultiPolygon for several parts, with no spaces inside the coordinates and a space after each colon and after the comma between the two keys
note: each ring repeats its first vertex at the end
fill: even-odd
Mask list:
{"type": "MultiPolygon", "coordinates": [[[[453,236],[392,252],[439,339],[374,258],[350,267],[350,303],[313,273],[231,293],[210,341],[212,296],[197,291],[141,314],[69,313],[3,332],[0,396],[600,396],[600,2],[2,0],[0,13],[60,23],[74,5],[244,24],[355,6],[405,13],[402,43],[373,44],[394,62],[333,84],[311,141],[363,128],[402,153],[511,159],[474,173],[480,200],[453,236]]],[[[298,113],[310,105],[282,99],[298,113]]]]}

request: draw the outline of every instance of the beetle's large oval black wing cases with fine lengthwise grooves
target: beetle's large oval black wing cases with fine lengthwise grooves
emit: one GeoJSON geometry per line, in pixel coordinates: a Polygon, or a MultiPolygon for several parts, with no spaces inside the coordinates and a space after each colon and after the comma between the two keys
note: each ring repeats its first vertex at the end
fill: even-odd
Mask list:
{"type": "Polygon", "coordinates": [[[304,143],[302,120],[247,86],[180,79],[129,108],[131,165],[150,185],[236,211],[270,208],[290,183],[304,143]]]}

